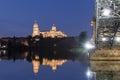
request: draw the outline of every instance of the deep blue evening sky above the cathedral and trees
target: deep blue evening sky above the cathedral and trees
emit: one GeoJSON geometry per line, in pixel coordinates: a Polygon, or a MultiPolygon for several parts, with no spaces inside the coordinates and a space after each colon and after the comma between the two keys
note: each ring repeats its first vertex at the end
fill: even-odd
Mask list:
{"type": "Polygon", "coordinates": [[[40,30],[52,24],[68,36],[92,34],[94,0],[0,0],[0,36],[31,35],[37,20],[40,30]]]}

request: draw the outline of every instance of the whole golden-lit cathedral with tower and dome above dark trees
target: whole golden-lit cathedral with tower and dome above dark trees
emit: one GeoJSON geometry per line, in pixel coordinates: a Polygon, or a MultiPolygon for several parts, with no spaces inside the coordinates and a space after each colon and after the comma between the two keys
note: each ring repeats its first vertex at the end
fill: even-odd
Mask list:
{"type": "Polygon", "coordinates": [[[46,38],[46,37],[50,37],[50,38],[67,37],[67,35],[65,33],[63,33],[62,31],[57,30],[57,28],[56,28],[56,26],[54,24],[53,24],[51,30],[49,30],[49,31],[40,31],[38,23],[35,22],[34,25],[33,25],[32,37],[39,36],[39,35],[42,35],[44,38],[46,38]]]}

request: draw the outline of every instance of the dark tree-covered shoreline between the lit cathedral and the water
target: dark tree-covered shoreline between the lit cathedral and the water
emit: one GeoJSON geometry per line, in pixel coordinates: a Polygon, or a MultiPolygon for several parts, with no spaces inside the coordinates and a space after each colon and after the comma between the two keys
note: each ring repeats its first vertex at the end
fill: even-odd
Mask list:
{"type": "Polygon", "coordinates": [[[76,51],[82,49],[83,44],[88,40],[86,32],[80,33],[77,37],[64,38],[43,38],[40,36],[28,37],[6,37],[0,38],[0,49],[11,51],[76,51]]]}

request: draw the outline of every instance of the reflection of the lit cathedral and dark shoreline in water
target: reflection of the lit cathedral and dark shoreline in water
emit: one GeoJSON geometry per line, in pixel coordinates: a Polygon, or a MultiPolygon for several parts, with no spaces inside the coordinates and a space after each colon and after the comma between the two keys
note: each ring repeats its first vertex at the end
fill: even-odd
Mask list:
{"type": "Polygon", "coordinates": [[[1,60],[24,60],[32,63],[34,74],[39,73],[39,68],[41,66],[51,67],[53,71],[56,71],[59,66],[62,66],[68,60],[83,62],[86,57],[81,57],[81,54],[74,53],[58,53],[53,51],[53,53],[39,52],[39,51],[24,51],[24,52],[14,52],[1,50],[0,51],[1,60]]]}

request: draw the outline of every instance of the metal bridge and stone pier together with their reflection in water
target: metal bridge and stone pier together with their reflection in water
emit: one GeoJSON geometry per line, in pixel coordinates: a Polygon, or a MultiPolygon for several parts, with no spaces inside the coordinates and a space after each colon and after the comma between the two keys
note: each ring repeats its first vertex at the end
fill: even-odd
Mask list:
{"type": "Polygon", "coordinates": [[[90,55],[94,80],[120,80],[120,0],[95,0],[93,41],[90,55]]]}

